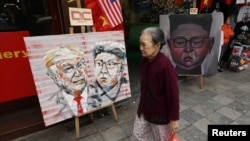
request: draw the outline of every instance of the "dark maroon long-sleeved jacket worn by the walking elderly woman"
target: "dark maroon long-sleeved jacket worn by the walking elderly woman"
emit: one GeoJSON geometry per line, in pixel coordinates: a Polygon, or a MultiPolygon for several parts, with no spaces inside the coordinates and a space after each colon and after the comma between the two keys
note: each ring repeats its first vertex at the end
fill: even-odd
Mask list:
{"type": "Polygon", "coordinates": [[[153,61],[143,58],[141,64],[141,96],[137,114],[154,124],[179,120],[179,88],[177,73],[170,60],[158,53],[153,61]]]}

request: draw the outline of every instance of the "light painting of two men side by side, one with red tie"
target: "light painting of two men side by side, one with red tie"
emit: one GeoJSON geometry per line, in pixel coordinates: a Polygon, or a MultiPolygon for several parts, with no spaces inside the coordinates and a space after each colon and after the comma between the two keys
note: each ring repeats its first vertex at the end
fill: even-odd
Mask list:
{"type": "Polygon", "coordinates": [[[46,126],[131,97],[123,31],[24,41],[46,126]]]}

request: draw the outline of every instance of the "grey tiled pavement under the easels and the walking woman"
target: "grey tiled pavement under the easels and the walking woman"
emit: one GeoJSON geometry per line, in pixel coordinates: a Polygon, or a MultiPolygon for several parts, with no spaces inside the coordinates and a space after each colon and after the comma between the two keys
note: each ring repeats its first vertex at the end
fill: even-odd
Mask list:
{"type": "MultiPolygon", "coordinates": [[[[116,104],[118,122],[112,114],[103,115],[83,124],[81,137],[75,139],[74,119],[70,119],[13,141],[131,141],[139,96],[137,68],[138,65],[129,64],[133,96],[116,104]]],[[[204,77],[202,89],[199,77],[180,79],[179,87],[181,119],[177,136],[181,141],[207,141],[208,124],[250,124],[249,68],[204,77]]]]}

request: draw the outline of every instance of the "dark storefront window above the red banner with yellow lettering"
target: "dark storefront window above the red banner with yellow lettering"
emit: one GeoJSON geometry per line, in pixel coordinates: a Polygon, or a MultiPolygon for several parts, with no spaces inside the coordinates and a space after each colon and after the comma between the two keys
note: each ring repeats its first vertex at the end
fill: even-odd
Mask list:
{"type": "Polygon", "coordinates": [[[51,31],[52,17],[48,0],[1,0],[0,31],[28,30],[31,35],[51,31]]]}

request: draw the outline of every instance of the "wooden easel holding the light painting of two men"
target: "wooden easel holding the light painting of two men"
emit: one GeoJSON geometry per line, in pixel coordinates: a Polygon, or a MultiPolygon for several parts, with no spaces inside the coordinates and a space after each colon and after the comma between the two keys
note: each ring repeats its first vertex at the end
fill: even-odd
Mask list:
{"type": "MultiPolygon", "coordinates": [[[[81,1],[80,0],[76,0],[76,3],[77,3],[77,8],[81,8],[81,1]]],[[[85,32],[85,26],[81,26],[81,32],[84,33],[85,32]]],[[[92,28],[92,32],[95,32],[95,29],[92,28]]],[[[74,34],[74,28],[73,27],[69,27],[69,33],[70,34],[74,34]]],[[[114,120],[117,122],[118,121],[118,116],[117,116],[117,112],[116,112],[116,108],[115,108],[115,105],[114,103],[111,103],[109,105],[106,105],[106,106],[103,106],[103,107],[100,107],[100,108],[97,108],[95,110],[91,110],[91,111],[88,111],[88,112],[85,112],[83,115],[81,116],[84,116],[84,115],[89,115],[90,116],[90,119],[93,120],[94,119],[94,115],[93,113],[95,111],[98,111],[98,110],[101,110],[101,109],[104,109],[104,108],[108,108],[108,107],[111,107],[112,109],[112,113],[113,113],[113,118],[114,120]]],[[[79,118],[81,116],[75,116],[75,129],[76,129],[76,139],[80,138],[80,122],[79,122],[79,118]]]]}

